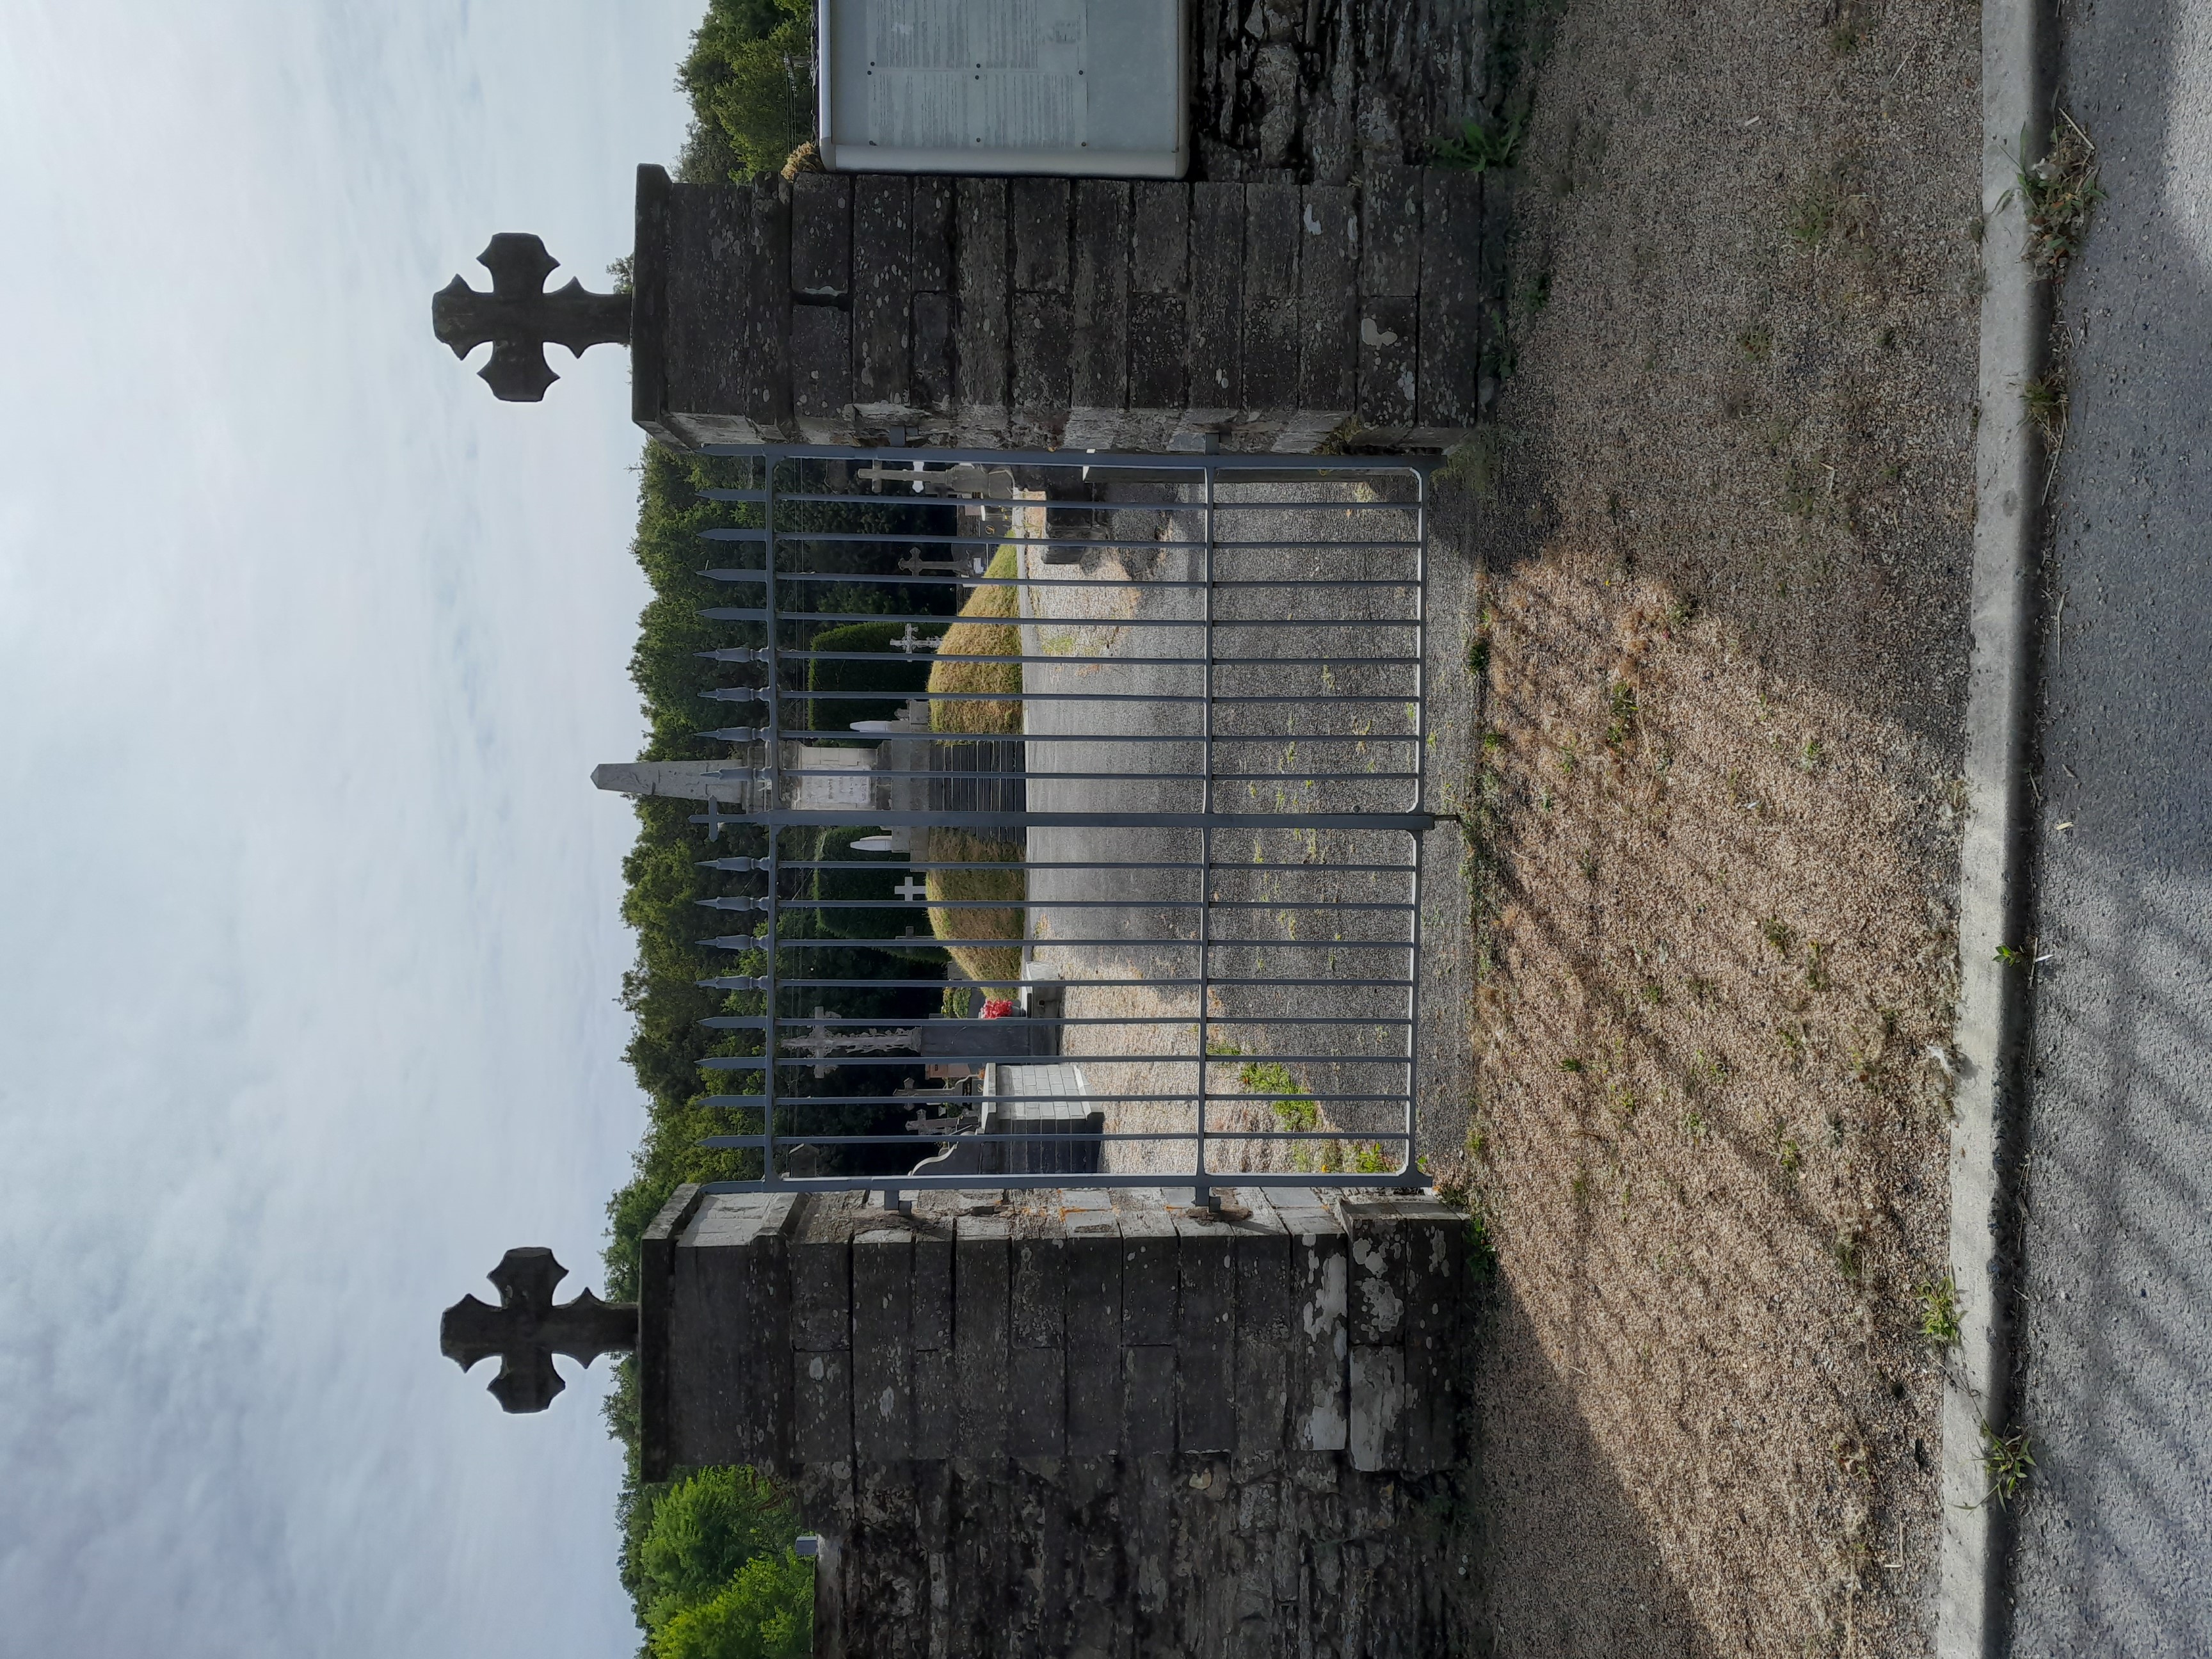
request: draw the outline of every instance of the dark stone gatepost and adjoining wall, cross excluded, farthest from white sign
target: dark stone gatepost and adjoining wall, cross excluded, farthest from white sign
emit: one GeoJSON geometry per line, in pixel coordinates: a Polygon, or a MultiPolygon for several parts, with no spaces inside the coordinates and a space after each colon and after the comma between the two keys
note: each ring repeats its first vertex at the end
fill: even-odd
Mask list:
{"type": "Polygon", "coordinates": [[[1455,1460],[1464,1254],[1416,1197],[686,1188],[644,1250],[646,1478],[790,1482],[818,1655],[1438,1652],[1409,1522],[1455,1460]]]}

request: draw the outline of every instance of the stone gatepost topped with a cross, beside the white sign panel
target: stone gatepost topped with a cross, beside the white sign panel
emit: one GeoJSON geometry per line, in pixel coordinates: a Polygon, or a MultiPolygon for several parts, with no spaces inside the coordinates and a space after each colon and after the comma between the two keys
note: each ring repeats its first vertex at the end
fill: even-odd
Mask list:
{"type": "Polygon", "coordinates": [[[641,166],[628,299],[540,292],[555,261],[502,232],[493,290],[456,276],[434,321],[458,354],[493,341],[520,400],[544,343],[626,341],[633,418],[677,449],[1449,449],[1495,347],[1484,188],[1383,159],[1347,184],[641,166]]]}

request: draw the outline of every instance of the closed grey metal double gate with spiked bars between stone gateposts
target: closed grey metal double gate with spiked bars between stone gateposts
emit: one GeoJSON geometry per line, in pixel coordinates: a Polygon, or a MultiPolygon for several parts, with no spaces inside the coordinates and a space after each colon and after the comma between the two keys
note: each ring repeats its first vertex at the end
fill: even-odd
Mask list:
{"type": "Polygon", "coordinates": [[[761,1172],[712,1190],[1422,1183],[1433,462],[708,453],[750,458],[701,613],[743,723],[608,787],[739,843],[708,1024],[752,1053],[706,1062],[739,1086],[706,1144],[761,1172]],[[818,967],[847,949],[947,980],[818,967]],[[854,1013],[940,984],[940,1018],[854,1013]],[[807,1093],[832,1068],[863,1093],[807,1093]]]}

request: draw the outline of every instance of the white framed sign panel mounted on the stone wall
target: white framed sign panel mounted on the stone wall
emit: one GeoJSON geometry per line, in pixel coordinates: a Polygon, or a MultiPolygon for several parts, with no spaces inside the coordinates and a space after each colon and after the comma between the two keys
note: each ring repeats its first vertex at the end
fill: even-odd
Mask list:
{"type": "Polygon", "coordinates": [[[823,166],[1179,179],[1188,0],[816,0],[823,166]]]}

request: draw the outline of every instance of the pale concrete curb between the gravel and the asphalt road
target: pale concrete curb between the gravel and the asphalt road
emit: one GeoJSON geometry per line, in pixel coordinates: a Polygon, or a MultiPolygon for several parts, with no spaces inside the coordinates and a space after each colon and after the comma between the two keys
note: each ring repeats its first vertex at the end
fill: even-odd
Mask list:
{"type": "Polygon", "coordinates": [[[2011,1411],[2006,1144],[2026,975],[1997,960],[2020,942],[2028,869],[2026,759],[2035,686],[2035,560],[2042,445],[2022,387],[2042,372],[2051,294],[2022,259],[2024,146],[2051,113],[2048,0],[1982,0],[1982,332],[1975,425],[1973,659],[1966,684],[1966,827],[1958,907],[1958,1088],[1951,1124],[1951,1274],[1960,1343],[1942,1402],[1938,1659],[2004,1648],[2004,1515],[1986,1502],[1982,1425],[2011,1411]]]}

